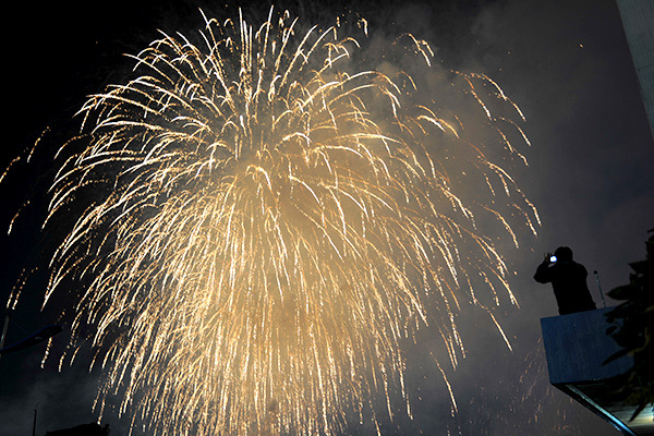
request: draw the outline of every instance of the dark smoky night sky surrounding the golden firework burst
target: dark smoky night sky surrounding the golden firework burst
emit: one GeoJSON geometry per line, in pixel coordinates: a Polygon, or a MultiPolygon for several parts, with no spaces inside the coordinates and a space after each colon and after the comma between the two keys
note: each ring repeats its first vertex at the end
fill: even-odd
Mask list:
{"type": "MultiPolygon", "coordinates": [[[[197,5],[222,17],[235,12],[233,7],[225,12],[219,5],[171,0],[55,3],[16,2],[5,14],[5,21],[16,25],[2,29],[3,98],[10,113],[3,120],[3,168],[47,126],[50,143],[70,136],[76,125],[70,119],[85,96],[120,82],[131,65],[122,53],[137,52],[157,36],[157,28],[199,27],[197,5]]],[[[286,4],[307,21],[319,21],[341,12],[342,3],[286,4]]],[[[556,315],[557,308],[550,289],[531,279],[543,253],[569,245],[577,261],[600,271],[604,290],[613,289],[628,281],[628,263],[644,257],[643,241],[654,227],[654,144],[614,0],[348,4],[368,19],[373,34],[409,31],[437,48],[437,58],[449,68],[483,72],[501,85],[528,119],[524,130],[532,146],[524,154],[530,167],[520,172],[519,183],[543,222],[537,239],[525,235],[519,250],[505,251],[516,271],[511,286],[521,305],[507,307],[500,319],[513,351],[487,322],[471,315],[462,328],[468,358],[450,375],[459,409],[455,417],[449,416],[449,395],[440,375],[426,363],[428,355],[411,351],[409,373],[416,386],[422,384],[422,398],[414,404],[412,423],[400,419],[386,431],[619,434],[548,388],[540,318],[556,315]]],[[[253,13],[267,9],[247,8],[253,13]]],[[[46,157],[37,159],[36,173],[17,166],[0,185],[5,205],[0,227],[9,226],[22,198],[43,190],[47,162],[46,157]]],[[[38,216],[41,209],[36,199],[26,215],[38,216]]],[[[52,237],[34,233],[31,218],[25,222],[11,238],[2,235],[2,303],[22,268],[43,264],[40,253],[52,244],[52,237]]],[[[24,337],[22,329],[32,332],[55,320],[58,307],[39,312],[43,280],[37,272],[28,282],[8,343],[24,337]]],[[[601,305],[592,276],[589,284],[601,305]]],[[[40,368],[43,355],[40,346],[0,360],[0,435],[26,434],[36,407],[37,434],[95,420],[90,404],[98,377],[87,374],[85,356],[59,373],[57,355],[40,368]]],[[[123,434],[125,422],[116,416],[104,421],[111,424],[112,434],[123,434]]]]}

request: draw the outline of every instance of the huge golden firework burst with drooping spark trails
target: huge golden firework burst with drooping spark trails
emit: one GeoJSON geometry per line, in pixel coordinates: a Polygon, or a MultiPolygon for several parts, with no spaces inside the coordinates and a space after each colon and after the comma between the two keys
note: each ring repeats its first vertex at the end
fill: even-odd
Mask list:
{"type": "MultiPolygon", "coordinates": [[[[535,210],[458,118],[353,68],[360,43],[338,25],[300,34],[272,11],[258,29],[205,21],[203,44],[162,35],[135,56],[135,78],[92,96],[83,135],[58,154],[46,221],[94,193],[46,295],[87,283],[69,359],[93,325],[100,413],[121,393],[120,412],[161,434],[334,434],[352,414],[376,425],[377,393],[392,416],[393,391],[411,413],[400,342],[432,325],[456,365],[456,313],[483,306],[475,283],[516,302],[476,222],[517,243],[499,186],[532,229],[535,210]],[[485,204],[458,192],[459,161],[485,204]]],[[[426,43],[407,39],[393,49],[428,62],[426,43]]],[[[522,131],[493,118],[475,81],[513,104],[464,78],[521,158],[497,124],[522,131]]]]}

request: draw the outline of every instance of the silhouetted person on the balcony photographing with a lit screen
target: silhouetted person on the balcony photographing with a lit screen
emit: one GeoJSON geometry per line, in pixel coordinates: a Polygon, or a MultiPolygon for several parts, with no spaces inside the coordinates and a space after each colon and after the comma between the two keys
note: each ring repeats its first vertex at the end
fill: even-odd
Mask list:
{"type": "Polygon", "coordinates": [[[559,314],[566,315],[596,308],[586,284],[589,272],[583,265],[572,261],[572,250],[559,246],[554,255],[556,262],[550,261],[552,253],[545,255],[545,259],[536,269],[534,280],[538,283],[552,282],[559,314]]]}

